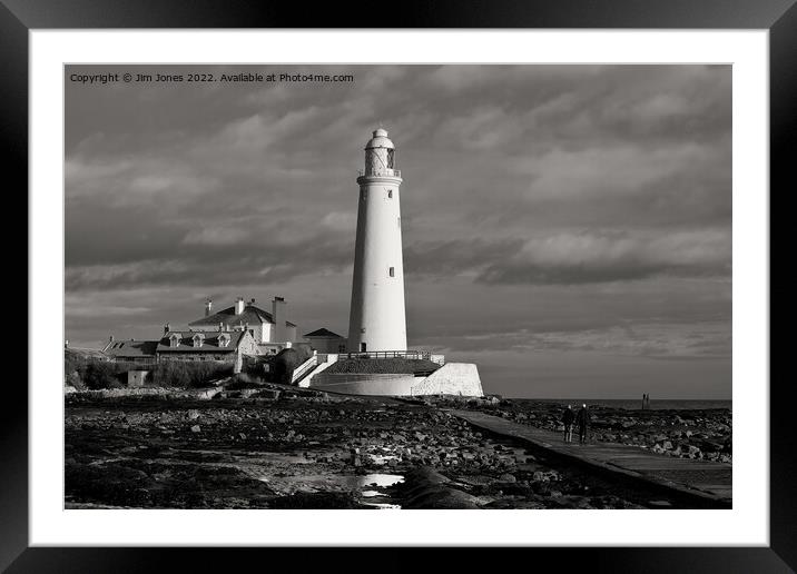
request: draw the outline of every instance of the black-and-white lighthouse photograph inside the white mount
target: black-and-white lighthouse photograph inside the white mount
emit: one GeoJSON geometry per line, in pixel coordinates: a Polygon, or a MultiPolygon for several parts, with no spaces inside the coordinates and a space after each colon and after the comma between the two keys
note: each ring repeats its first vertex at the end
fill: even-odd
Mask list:
{"type": "Polygon", "coordinates": [[[66,508],[732,507],[731,66],[63,73],[66,508]]]}

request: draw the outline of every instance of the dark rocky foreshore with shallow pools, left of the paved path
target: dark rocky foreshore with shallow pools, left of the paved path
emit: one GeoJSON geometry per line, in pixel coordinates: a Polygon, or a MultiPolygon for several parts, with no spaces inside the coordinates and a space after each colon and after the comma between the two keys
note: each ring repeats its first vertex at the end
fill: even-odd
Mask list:
{"type": "MultiPolygon", "coordinates": [[[[170,396],[68,399],[68,507],[677,507],[484,436],[433,400],[170,396]]],[[[523,413],[509,406],[496,414],[523,413]]]]}

